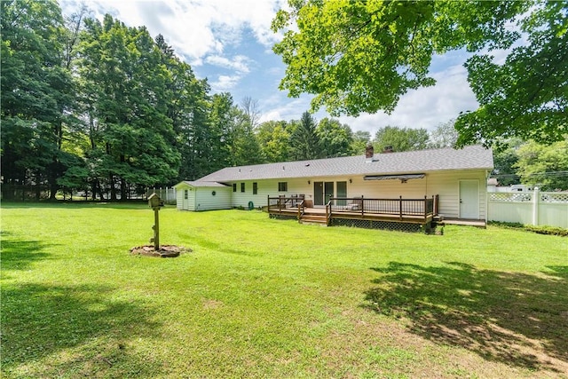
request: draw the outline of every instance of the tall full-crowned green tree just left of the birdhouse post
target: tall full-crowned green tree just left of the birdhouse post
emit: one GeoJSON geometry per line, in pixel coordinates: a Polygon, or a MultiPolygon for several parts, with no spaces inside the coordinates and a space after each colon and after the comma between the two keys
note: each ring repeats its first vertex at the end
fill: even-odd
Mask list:
{"type": "Polygon", "coordinates": [[[102,24],[86,20],[77,49],[94,186],[106,181],[111,199],[120,190],[123,200],[130,184],[154,186],[176,178],[180,156],[168,117],[169,73],[146,28],[127,28],[110,15],[102,24]]]}

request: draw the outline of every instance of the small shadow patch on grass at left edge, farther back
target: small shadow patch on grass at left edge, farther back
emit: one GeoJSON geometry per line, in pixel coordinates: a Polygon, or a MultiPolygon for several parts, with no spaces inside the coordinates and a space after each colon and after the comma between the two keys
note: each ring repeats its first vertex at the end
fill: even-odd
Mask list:
{"type": "MultiPolygon", "coordinates": [[[[36,261],[47,258],[49,255],[43,249],[52,246],[42,241],[20,240],[12,237],[11,233],[0,233],[2,249],[0,251],[0,265],[2,270],[28,270],[36,261]]],[[[6,277],[4,276],[4,279],[6,277]]]]}

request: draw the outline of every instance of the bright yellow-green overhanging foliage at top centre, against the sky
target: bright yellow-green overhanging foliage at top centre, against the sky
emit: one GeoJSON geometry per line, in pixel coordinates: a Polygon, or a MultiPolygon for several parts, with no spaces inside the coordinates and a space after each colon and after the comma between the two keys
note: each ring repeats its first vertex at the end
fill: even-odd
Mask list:
{"type": "Polygon", "coordinates": [[[434,53],[508,46],[506,25],[528,4],[501,2],[288,2],[272,30],[287,65],[280,89],[315,95],[331,114],[390,113],[406,91],[434,84],[434,53]],[[495,17],[498,16],[498,17],[495,17]],[[297,31],[293,28],[297,27],[297,31]]]}

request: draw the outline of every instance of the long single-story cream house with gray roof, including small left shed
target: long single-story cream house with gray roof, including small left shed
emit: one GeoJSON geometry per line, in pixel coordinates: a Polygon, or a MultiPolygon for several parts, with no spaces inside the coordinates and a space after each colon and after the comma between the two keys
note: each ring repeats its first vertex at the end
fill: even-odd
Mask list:
{"type": "Polygon", "coordinates": [[[486,220],[486,182],[493,153],[483,146],[442,148],[227,167],[175,186],[177,209],[269,205],[270,197],[304,195],[314,208],[330,198],[437,196],[446,218],[486,220]]]}

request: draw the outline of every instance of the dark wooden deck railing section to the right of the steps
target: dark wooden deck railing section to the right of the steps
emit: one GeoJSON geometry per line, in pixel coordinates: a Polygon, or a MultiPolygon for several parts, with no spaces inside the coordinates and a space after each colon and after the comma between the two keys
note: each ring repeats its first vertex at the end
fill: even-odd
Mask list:
{"type": "Polygon", "coordinates": [[[423,199],[367,199],[363,196],[352,198],[330,198],[326,206],[326,214],[359,214],[365,215],[392,215],[403,217],[436,216],[438,213],[438,195],[431,199],[424,196],[423,199]],[[328,210],[327,210],[328,209],[328,210]]]}

